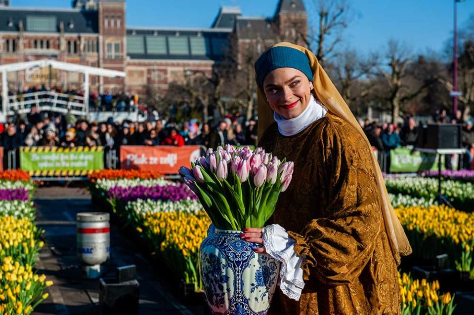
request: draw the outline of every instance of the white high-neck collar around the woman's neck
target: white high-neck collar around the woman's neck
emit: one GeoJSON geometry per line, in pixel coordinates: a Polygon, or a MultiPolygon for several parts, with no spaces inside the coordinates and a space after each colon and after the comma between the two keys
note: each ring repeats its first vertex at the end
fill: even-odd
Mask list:
{"type": "Polygon", "coordinates": [[[273,112],[273,118],[278,123],[278,131],[280,131],[282,135],[294,136],[302,132],[314,121],[323,118],[327,112],[327,108],[311,95],[308,106],[300,116],[286,119],[276,112],[273,112]]]}

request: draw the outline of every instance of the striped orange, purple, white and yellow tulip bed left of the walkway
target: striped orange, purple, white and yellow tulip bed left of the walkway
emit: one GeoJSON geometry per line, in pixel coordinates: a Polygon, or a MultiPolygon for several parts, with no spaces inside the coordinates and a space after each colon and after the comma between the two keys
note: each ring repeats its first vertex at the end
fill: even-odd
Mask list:
{"type": "Polygon", "coordinates": [[[21,172],[0,172],[0,178],[0,314],[29,315],[52,285],[33,268],[43,246],[30,201],[35,186],[21,172]]]}

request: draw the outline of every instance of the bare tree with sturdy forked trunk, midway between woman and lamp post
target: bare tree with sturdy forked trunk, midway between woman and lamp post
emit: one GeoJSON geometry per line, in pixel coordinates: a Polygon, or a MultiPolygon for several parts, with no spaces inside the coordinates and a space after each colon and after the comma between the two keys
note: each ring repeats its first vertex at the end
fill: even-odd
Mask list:
{"type": "MultiPolygon", "coordinates": [[[[374,58],[380,59],[377,56],[374,58]]],[[[386,83],[377,98],[389,105],[393,123],[400,116],[403,105],[421,95],[437,80],[437,77],[422,79],[416,76],[414,62],[407,46],[389,40],[384,62],[378,62],[375,66],[376,75],[386,83]]]]}

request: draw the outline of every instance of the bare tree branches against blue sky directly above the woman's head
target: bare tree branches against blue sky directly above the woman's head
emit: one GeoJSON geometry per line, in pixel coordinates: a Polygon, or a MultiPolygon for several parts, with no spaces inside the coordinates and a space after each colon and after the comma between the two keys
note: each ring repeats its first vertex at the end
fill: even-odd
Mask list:
{"type": "Polygon", "coordinates": [[[334,54],[342,41],[342,33],[350,20],[350,7],[346,0],[312,0],[309,9],[306,44],[315,48],[315,55],[323,65],[334,54]]]}

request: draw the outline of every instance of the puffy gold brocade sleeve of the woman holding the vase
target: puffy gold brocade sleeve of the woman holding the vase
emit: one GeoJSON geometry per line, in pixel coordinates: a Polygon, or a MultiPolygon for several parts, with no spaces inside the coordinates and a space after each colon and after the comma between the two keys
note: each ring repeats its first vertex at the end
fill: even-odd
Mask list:
{"type": "Polygon", "coordinates": [[[372,257],[383,225],[372,153],[361,142],[350,126],[331,120],[315,141],[312,176],[321,183],[324,215],[298,234],[288,232],[297,241],[297,255],[305,256],[304,280],[315,276],[328,285],[348,283],[372,257]]]}

